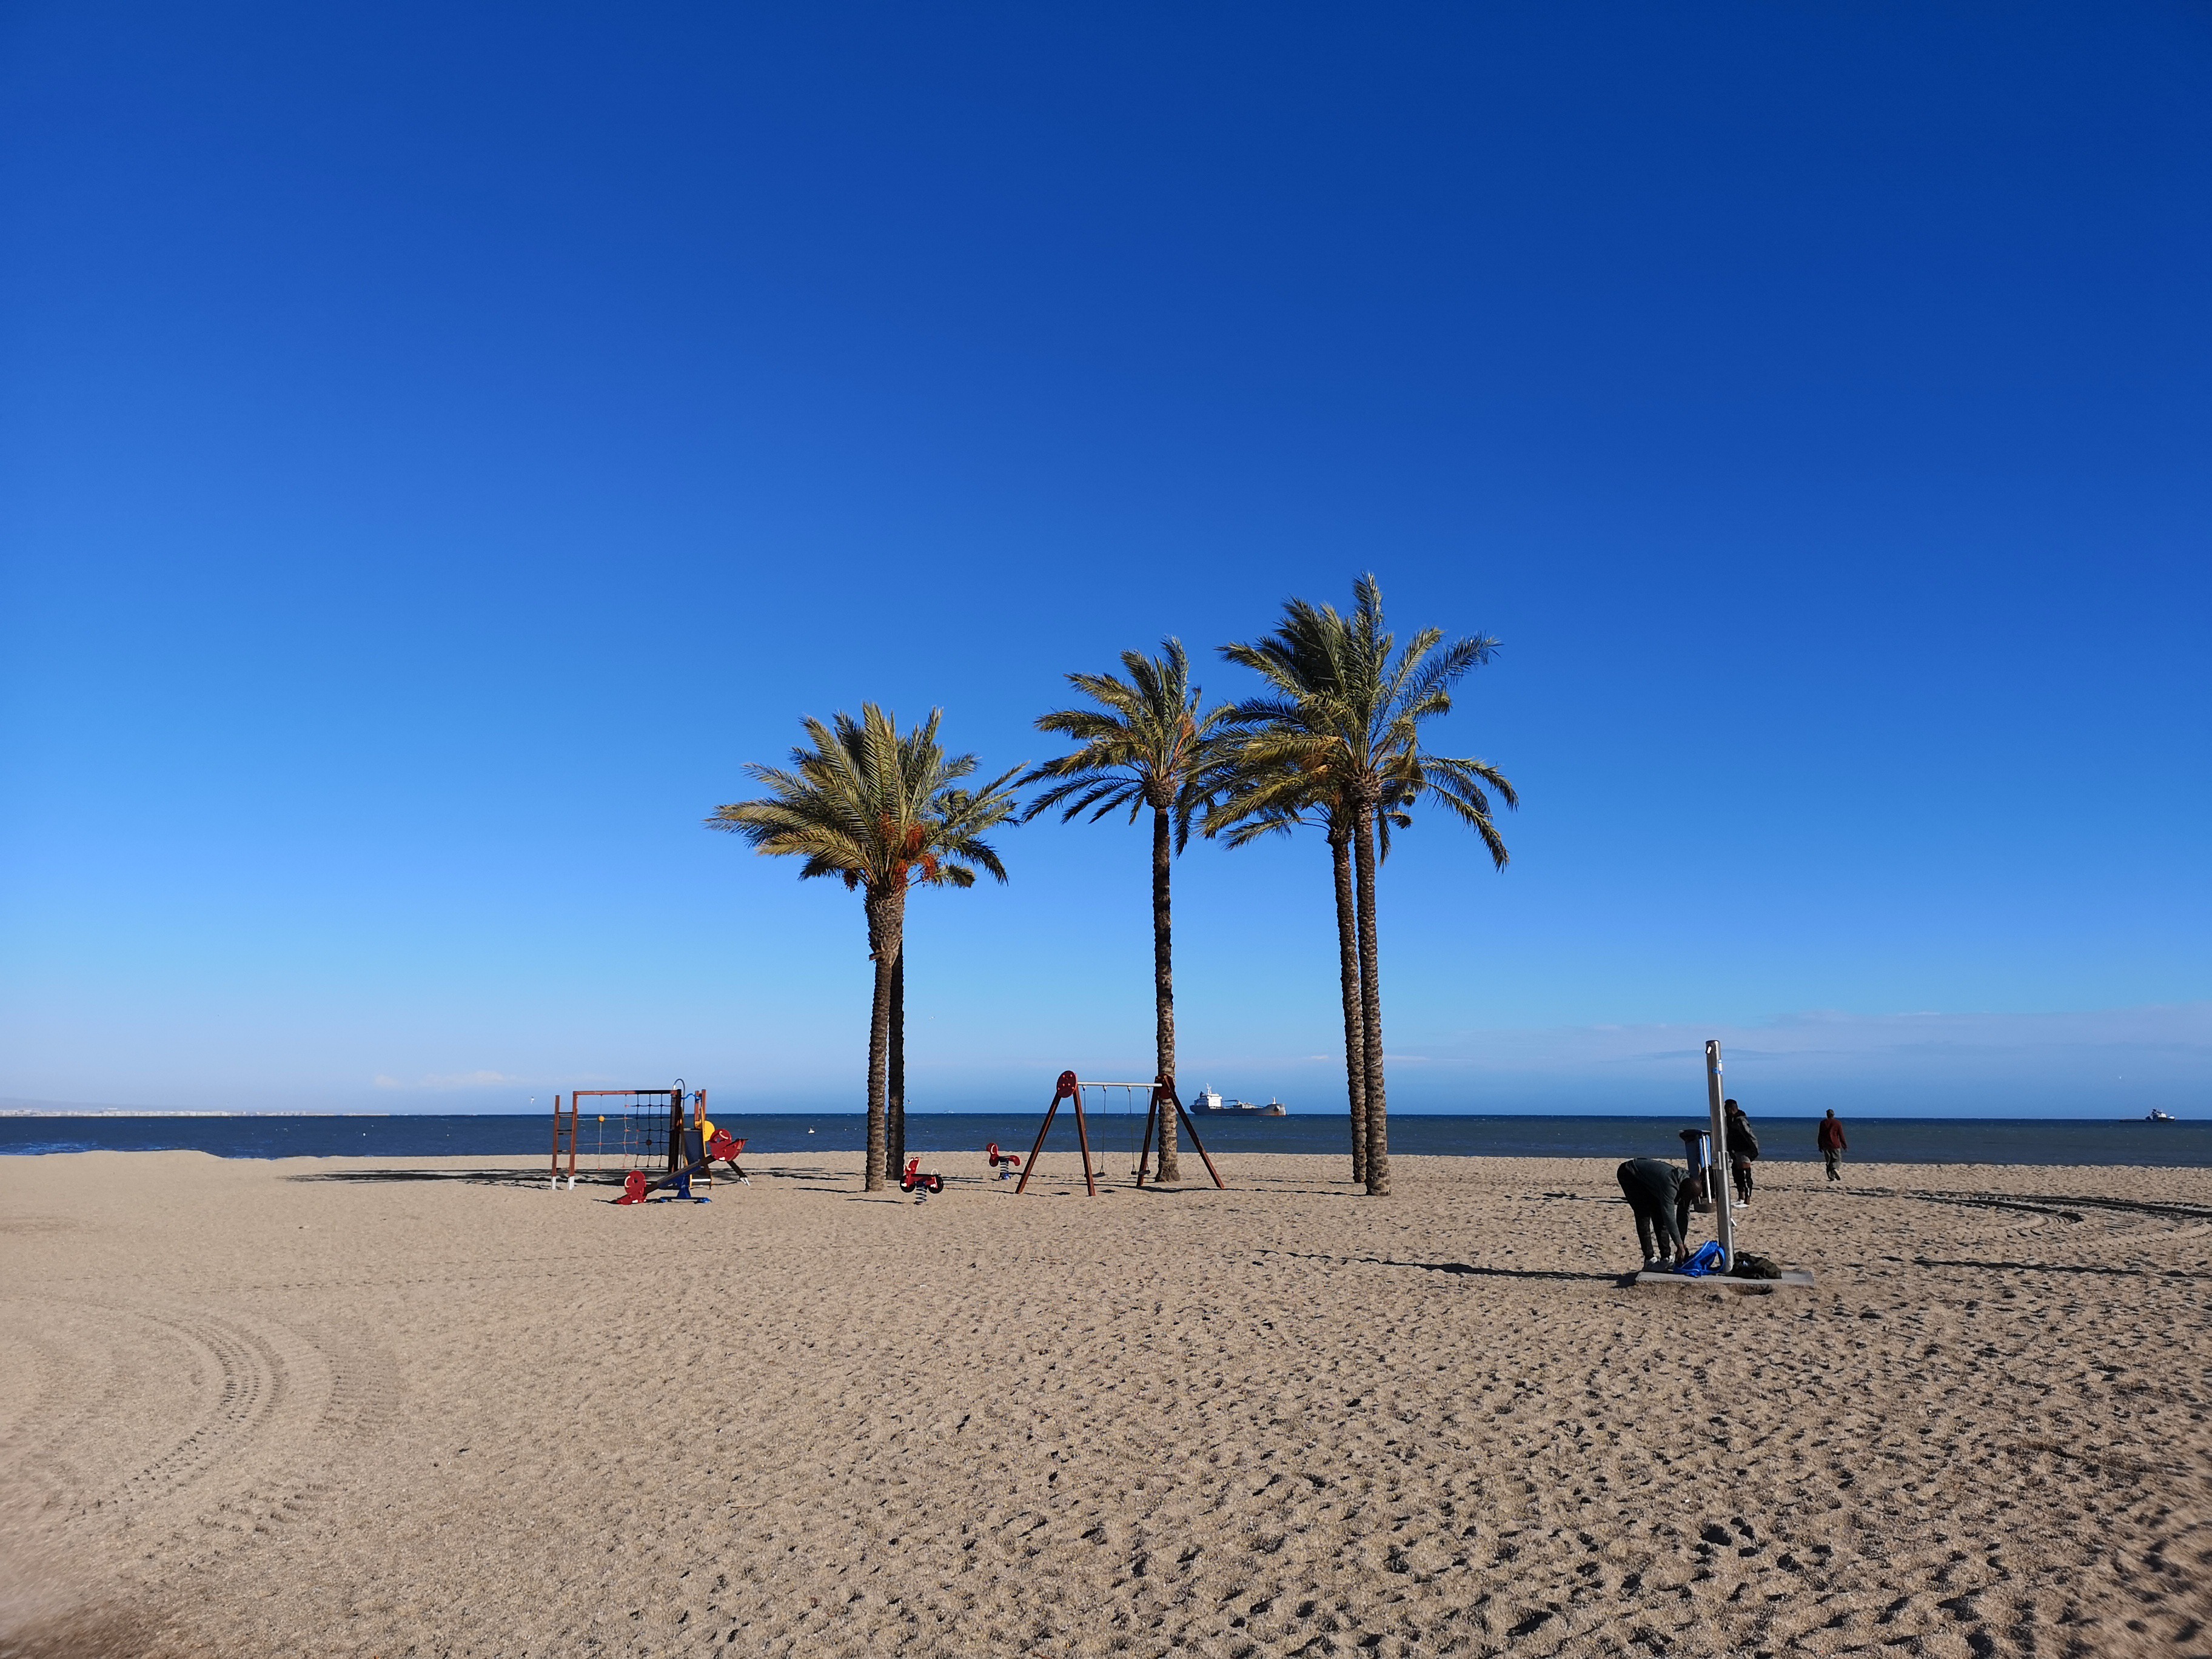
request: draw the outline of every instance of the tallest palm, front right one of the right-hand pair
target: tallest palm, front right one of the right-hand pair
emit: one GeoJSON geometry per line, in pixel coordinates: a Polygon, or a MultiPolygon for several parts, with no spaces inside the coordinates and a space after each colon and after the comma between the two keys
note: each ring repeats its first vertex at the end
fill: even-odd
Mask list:
{"type": "Polygon", "coordinates": [[[1349,617],[1334,606],[1290,599],[1272,635],[1221,648],[1272,688],[1272,697],[1239,703],[1230,714],[1243,732],[1232,763],[1241,783],[1221,799],[1223,821],[1305,810],[1314,792],[1352,821],[1360,1051],[1354,1060],[1349,1037],[1345,1048],[1347,1068],[1356,1064],[1363,1073],[1363,1177],[1376,1197],[1389,1192],[1376,841],[1380,834],[1387,852],[1391,827],[1411,823],[1413,803],[1433,801],[1482,836],[1498,869],[1506,867],[1489,790],[1517,807],[1513,785],[1486,761],[1444,759],[1420,745],[1422,721],[1449,714],[1451,688],[1495,650],[1498,641],[1486,635],[1444,644],[1440,628],[1422,628],[1400,650],[1383,622],[1383,588],[1374,575],[1354,586],[1349,617]]]}

